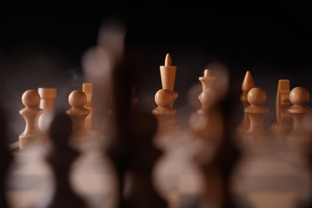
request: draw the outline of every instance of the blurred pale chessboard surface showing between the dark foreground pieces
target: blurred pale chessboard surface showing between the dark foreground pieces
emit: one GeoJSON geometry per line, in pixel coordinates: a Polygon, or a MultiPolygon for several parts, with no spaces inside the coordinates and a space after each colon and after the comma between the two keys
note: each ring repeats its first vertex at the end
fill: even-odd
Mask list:
{"type": "MultiPolygon", "coordinates": [[[[205,190],[204,176],[192,158],[200,141],[188,132],[164,139],[167,140],[163,155],[154,167],[156,190],[169,208],[196,207],[205,190]]],[[[14,157],[7,183],[10,206],[29,208],[48,204],[54,188],[53,174],[44,154],[20,151],[18,142],[9,148],[14,157]]],[[[105,153],[81,154],[72,164],[70,181],[75,193],[91,208],[114,208],[117,181],[105,153]]],[[[296,208],[310,194],[309,185],[309,172],[302,156],[278,148],[245,154],[232,176],[233,196],[240,207],[296,208]]]]}

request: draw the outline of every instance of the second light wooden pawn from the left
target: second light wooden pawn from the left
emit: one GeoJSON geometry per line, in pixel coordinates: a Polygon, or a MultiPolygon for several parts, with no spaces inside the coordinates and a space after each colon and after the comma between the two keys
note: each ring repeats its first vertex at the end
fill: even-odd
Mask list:
{"type": "Polygon", "coordinates": [[[73,122],[72,134],[69,142],[74,148],[84,149],[90,142],[90,135],[85,128],[85,119],[90,111],[83,106],[87,102],[86,94],[81,90],[74,90],[68,96],[68,102],[72,108],[66,111],[73,122]]]}

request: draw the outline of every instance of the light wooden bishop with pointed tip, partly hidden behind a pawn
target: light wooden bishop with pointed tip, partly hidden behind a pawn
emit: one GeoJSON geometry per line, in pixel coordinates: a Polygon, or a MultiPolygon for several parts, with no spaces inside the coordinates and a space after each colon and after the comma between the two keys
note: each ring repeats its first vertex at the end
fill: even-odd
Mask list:
{"type": "MultiPolygon", "coordinates": [[[[240,96],[240,100],[244,106],[244,109],[250,106],[250,103],[247,100],[248,91],[255,87],[254,79],[252,78],[251,72],[246,71],[243,83],[242,83],[242,91],[243,93],[240,96]]],[[[243,134],[248,130],[250,125],[250,120],[247,114],[244,112],[243,120],[240,125],[237,127],[237,137],[240,140],[243,134]]]]}

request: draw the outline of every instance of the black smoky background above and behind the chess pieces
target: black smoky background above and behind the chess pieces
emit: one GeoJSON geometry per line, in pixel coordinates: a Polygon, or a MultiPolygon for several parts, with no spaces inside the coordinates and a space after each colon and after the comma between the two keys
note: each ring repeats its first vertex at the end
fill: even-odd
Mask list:
{"type": "Polygon", "coordinates": [[[268,122],[274,122],[279,79],[312,90],[311,8],[299,0],[1,3],[0,93],[9,140],[16,141],[24,129],[18,111],[25,90],[57,87],[57,108],[70,108],[69,92],[84,81],[82,54],[98,44],[99,27],[107,20],[126,28],[125,48],[142,68],[138,99],[146,109],[156,107],[159,65],[170,53],[177,66],[177,117],[189,115],[188,90],[209,64],[218,63],[228,70],[237,99],[246,70],[251,71],[256,86],[267,92],[268,122]]]}

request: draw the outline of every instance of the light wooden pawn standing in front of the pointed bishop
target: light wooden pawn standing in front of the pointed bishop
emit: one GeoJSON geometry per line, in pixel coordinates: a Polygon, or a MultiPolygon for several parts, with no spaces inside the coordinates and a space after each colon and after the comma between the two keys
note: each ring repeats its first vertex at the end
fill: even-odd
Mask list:
{"type": "Polygon", "coordinates": [[[245,113],[250,120],[249,129],[243,134],[242,145],[247,151],[269,151],[271,135],[265,130],[263,125],[264,117],[270,109],[263,106],[266,102],[266,92],[254,87],[247,94],[247,101],[250,106],[245,108],[245,113]]]}

